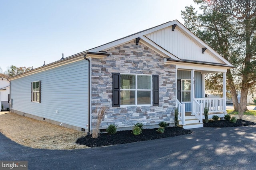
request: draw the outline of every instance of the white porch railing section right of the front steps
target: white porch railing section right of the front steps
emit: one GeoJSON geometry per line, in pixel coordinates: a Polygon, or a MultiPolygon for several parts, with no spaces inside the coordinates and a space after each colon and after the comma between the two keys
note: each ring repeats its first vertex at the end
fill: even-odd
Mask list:
{"type": "Polygon", "coordinates": [[[196,102],[209,108],[208,113],[226,112],[226,103],[224,98],[196,98],[196,102]]]}

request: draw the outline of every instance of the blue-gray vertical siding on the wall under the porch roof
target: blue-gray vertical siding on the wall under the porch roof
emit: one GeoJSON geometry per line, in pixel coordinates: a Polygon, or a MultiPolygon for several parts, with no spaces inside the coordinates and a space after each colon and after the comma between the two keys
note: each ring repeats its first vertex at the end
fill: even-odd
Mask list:
{"type": "MultiPolygon", "coordinates": [[[[177,70],[177,79],[191,79],[191,71],[177,70]]],[[[195,98],[202,98],[202,75],[201,72],[195,71],[195,98]]],[[[185,111],[191,111],[191,103],[185,103],[185,111]]]]}

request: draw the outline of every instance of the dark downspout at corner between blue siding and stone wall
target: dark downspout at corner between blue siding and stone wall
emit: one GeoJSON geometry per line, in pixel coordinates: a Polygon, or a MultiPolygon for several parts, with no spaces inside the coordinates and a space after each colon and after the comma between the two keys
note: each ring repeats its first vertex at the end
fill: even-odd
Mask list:
{"type": "Polygon", "coordinates": [[[91,129],[91,64],[90,64],[90,60],[86,58],[86,54],[84,55],[84,59],[86,59],[88,61],[88,132],[87,135],[90,135],[90,129],[91,129]]]}

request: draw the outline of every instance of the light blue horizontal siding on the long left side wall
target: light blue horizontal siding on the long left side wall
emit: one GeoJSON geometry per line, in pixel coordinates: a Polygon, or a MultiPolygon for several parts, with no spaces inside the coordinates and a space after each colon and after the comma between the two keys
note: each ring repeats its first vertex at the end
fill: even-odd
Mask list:
{"type": "Polygon", "coordinates": [[[11,81],[12,109],[86,129],[88,62],[76,61],[11,81]],[[41,80],[41,103],[31,102],[31,82],[41,80]],[[58,110],[58,113],[56,111],[58,110]]]}

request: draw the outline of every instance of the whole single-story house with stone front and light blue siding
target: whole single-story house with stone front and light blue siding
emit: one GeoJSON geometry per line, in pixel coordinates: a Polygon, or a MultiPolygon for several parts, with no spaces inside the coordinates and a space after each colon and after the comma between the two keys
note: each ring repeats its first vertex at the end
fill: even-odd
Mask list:
{"type": "Polygon", "coordinates": [[[103,106],[100,129],[173,124],[178,107],[182,127],[202,127],[205,106],[226,112],[226,96],[204,98],[204,75],[222,72],[226,92],[232,67],[174,20],[10,78],[11,109],[90,131],[103,106]]]}

